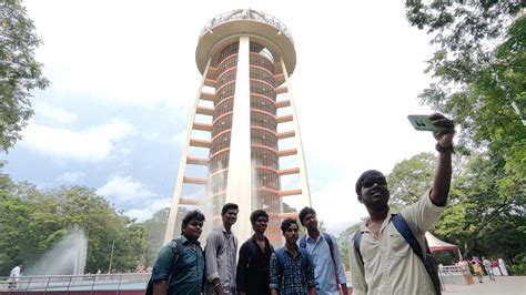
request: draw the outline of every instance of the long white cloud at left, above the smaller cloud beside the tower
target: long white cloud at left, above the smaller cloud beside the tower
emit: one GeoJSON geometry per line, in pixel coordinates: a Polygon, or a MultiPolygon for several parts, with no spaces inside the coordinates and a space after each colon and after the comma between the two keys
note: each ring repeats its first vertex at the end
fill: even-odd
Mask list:
{"type": "Polygon", "coordinates": [[[20,145],[55,159],[101,162],[114,152],[114,143],[130,134],[133,126],[113,120],[109,124],[72,131],[29,122],[20,145]]]}

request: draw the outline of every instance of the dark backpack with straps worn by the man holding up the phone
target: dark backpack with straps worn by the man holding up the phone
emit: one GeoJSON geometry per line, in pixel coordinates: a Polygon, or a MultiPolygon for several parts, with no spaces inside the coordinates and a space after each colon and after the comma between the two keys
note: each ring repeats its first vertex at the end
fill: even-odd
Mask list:
{"type": "MultiPolygon", "coordinates": [[[[425,271],[427,272],[427,275],[429,275],[429,278],[433,282],[433,288],[435,289],[435,293],[437,295],[441,295],[442,283],[441,283],[441,277],[438,276],[438,266],[436,265],[435,258],[433,258],[433,256],[431,255],[429,247],[427,246],[427,241],[426,241],[426,253],[424,256],[424,254],[422,254],[421,244],[418,243],[418,241],[416,241],[416,237],[411,231],[409,225],[405,221],[404,216],[402,216],[402,214],[393,214],[391,216],[391,221],[393,222],[393,225],[396,227],[396,230],[404,237],[405,242],[409,244],[411,248],[416,254],[416,256],[421,258],[422,263],[424,264],[425,271]]],[[[360,253],[361,241],[362,241],[362,232],[357,230],[356,233],[354,234],[353,244],[363,264],[364,261],[362,258],[362,253],[360,253]]]]}

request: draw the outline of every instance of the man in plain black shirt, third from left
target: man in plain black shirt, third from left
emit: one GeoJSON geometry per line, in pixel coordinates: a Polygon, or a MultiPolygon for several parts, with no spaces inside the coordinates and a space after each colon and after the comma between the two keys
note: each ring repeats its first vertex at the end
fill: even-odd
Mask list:
{"type": "Polygon", "coordinates": [[[237,262],[237,294],[239,295],[269,295],[270,262],[274,252],[265,236],[269,225],[269,214],[263,210],[252,212],[250,216],[254,235],[240,248],[237,262]]]}

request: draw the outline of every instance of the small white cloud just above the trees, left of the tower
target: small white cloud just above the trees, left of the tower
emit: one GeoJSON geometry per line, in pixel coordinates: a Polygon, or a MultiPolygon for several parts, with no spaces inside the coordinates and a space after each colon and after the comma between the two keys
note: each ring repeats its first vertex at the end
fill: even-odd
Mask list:
{"type": "Polygon", "coordinates": [[[97,190],[128,216],[146,220],[158,210],[170,206],[170,199],[160,199],[154,192],[131,176],[114,175],[97,190]]]}

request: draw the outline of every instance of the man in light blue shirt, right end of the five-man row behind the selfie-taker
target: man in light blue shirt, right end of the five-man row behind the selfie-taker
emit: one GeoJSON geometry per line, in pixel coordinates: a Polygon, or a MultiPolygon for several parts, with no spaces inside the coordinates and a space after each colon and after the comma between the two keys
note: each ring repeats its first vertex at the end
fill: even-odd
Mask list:
{"type": "Polygon", "coordinates": [[[316,294],[338,295],[338,288],[341,287],[343,294],[347,295],[347,282],[336,237],[320,232],[316,212],[312,207],[304,207],[300,211],[300,222],[307,230],[307,233],[302,236],[297,245],[307,250],[314,264],[316,294]]]}

